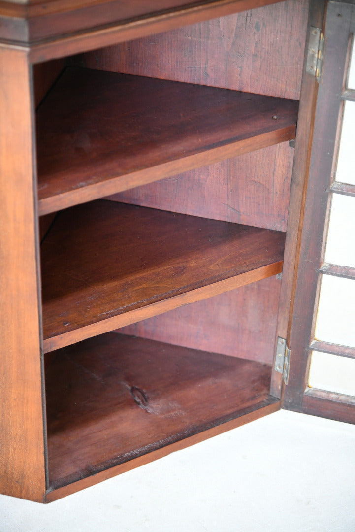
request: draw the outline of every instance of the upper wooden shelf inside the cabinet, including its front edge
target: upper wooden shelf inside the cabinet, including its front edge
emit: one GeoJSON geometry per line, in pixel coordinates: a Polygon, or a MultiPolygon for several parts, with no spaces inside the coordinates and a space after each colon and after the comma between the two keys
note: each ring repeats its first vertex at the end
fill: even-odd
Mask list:
{"type": "Polygon", "coordinates": [[[39,214],[293,139],[297,112],[291,99],[66,69],[37,113],[39,214]]]}

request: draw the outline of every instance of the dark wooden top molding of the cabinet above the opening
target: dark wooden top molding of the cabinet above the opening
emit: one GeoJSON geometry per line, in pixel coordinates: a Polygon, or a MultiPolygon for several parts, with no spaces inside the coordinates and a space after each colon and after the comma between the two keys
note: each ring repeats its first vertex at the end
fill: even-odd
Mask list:
{"type": "Polygon", "coordinates": [[[0,43],[40,62],[281,0],[0,0],[0,43]]]}

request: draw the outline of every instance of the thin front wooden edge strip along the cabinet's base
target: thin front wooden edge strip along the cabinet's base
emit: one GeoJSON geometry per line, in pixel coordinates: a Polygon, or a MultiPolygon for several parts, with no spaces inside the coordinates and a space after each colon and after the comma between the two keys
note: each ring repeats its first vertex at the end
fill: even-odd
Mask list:
{"type": "Polygon", "coordinates": [[[104,471],[100,471],[99,473],[95,473],[90,477],[77,480],[76,482],[67,484],[62,488],[56,488],[53,491],[48,491],[46,502],[56,501],[58,498],[65,497],[79,491],[79,489],[87,488],[88,486],[92,486],[108,478],[112,478],[126,471],[130,471],[131,469],[140,467],[141,465],[153,462],[154,460],[162,458],[170,453],[180,451],[181,449],[189,447],[190,445],[195,445],[196,443],[200,443],[208,438],[212,438],[218,434],[227,432],[228,430],[245,425],[245,423],[255,421],[256,419],[276,412],[277,410],[280,410],[280,402],[275,400],[275,397],[269,396],[267,400],[257,403],[252,408],[241,410],[239,412],[240,415],[238,418],[224,422],[222,425],[217,425],[216,427],[207,430],[205,429],[203,432],[195,434],[194,436],[189,436],[179,440],[178,442],[165,445],[165,447],[161,447],[156,451],[150,451],[148,454],[138,456],[138,458],[132,458],[129,462],[114,465],[113,467],[105,469],[104,471]]]}

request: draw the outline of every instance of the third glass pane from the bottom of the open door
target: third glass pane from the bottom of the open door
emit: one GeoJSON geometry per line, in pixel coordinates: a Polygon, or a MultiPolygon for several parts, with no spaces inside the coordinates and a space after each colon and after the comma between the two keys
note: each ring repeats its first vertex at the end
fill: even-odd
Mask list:
{"type": "Polygon", "coordinates": [[[355,268],[355,198],[333,194],[325,261],[355,268]]]}

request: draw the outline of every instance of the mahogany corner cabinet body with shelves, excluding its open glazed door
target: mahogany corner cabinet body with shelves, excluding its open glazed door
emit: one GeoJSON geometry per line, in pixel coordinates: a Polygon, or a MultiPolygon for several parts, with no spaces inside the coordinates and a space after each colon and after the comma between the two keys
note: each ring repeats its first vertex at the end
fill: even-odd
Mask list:
{"type": "Polygon", "coordinates": [[[282,405],[353,420],[306,389],[325,13],[0,2],[2,493],[50,502],[282,405]]]}

